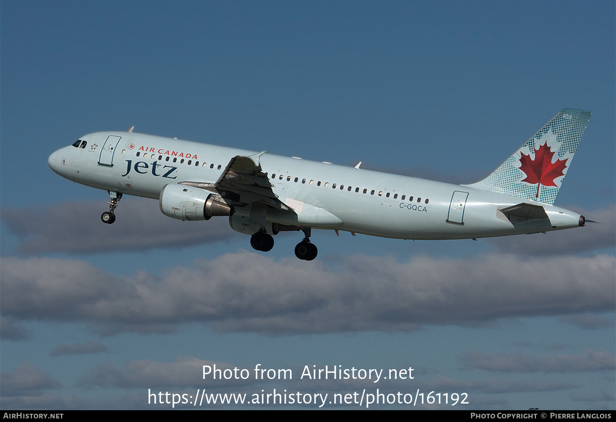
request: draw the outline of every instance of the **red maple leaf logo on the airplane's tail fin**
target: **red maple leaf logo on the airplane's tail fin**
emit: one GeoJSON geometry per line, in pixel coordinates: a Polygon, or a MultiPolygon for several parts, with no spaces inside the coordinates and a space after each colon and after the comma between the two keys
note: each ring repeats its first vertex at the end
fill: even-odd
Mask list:
{"type": "Polygon", "coordinates": [[[521,153],[520,157],[520,170],[525,173],[526,178],[522,179],[531,185],[537,183],[537,198],[539,197],[539,188],[543,186],[557,186],[554,183],[554,179],[560,176],[564,176],[563,170],[567,168],[567,160],[557,159],[556,162],[552,162],[554,153],[550,151],[549,146],[543,144],[539,149],[535,149],[535,159],[530,158],[529,155],[521,153]]]}

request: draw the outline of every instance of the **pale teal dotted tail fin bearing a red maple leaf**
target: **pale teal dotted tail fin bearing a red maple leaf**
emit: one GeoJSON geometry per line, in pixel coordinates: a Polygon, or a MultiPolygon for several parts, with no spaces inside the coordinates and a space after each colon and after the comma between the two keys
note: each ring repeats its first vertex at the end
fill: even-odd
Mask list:
{"type": "Polygon", "coordinates": [[[464,186],[554,204],[591,114],[562,109],[488,177],[464,186]]]}

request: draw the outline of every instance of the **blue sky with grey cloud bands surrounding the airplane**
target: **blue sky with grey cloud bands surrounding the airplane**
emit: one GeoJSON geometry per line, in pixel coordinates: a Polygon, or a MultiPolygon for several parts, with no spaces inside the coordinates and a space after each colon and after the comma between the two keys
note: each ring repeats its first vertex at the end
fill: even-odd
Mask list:
{"type": "Polygon", "coordinates": [[[2,0],[0,404],[379,388],[614,409],[614,17],[613,2],[2,0]],[[256,253],[225,218],[171,221],[151,199],[124,197],[103,225],[107,193],[47,166],[135,125],[472,183],[562,108],[593,116],[555,205],[601,225],[477,242],[315,231],[310,263],[297,233],[256,253]],[[203,380],[213,364],[294,378],[203,380]],[[415,378],[300,380],[304,365],[415,378]]]}

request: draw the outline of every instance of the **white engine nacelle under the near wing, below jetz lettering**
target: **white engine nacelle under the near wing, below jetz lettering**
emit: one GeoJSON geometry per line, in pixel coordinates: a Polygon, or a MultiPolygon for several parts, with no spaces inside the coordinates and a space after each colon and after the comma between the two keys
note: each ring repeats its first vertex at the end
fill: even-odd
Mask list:
{"type": "Polygon", "coordinates": [[[177,220],[209,220],[216,216],[233,215],[233,207],[205,189],[179,183],[164,186],[160,193],[160,210],[177,220]]]}

